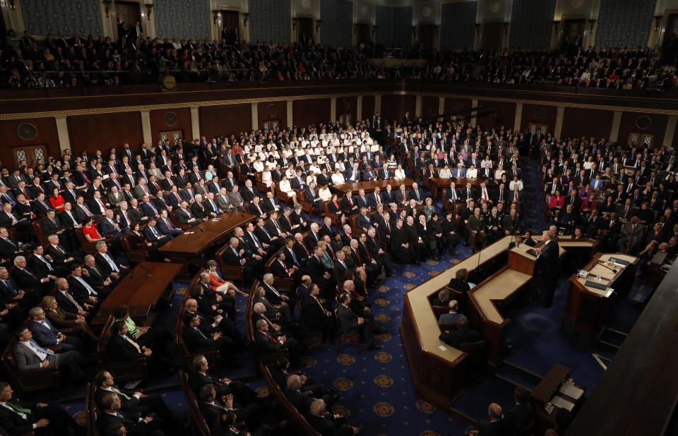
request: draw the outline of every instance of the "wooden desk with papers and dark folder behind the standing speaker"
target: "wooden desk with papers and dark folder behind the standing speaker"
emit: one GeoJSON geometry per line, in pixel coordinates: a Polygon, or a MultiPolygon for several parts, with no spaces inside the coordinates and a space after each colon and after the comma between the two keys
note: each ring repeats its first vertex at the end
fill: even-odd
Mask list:
{"type": "Polygon", "coordinates": [[[574,346],[586,348],[597,339],[605,325],[605,317],[609,306],[609,289],[617,293],[628,293],[636,277],[638,258],[621,253],[596,253],[583,270],[588,271],[586,278],[572,274],[567,304],[563,315],[563,330],[574,346]],[[612,272],[597,262],[607,262],[609,258],[619,258],[629,262],[626,267],[614,266],[612,272]],[[596,289],[586,286],[586,281],[595,281],[600,276],[600,284],[607,284],[607,289],[596,289]]]}

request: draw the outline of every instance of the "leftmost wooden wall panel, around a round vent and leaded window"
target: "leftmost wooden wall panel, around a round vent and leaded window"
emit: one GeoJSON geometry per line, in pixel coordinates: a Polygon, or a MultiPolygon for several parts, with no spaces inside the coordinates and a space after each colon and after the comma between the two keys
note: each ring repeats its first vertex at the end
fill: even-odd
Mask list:
{"type": "Polygon", "coordinates": [[[10,171],[17,165],[12,150],[13,147],[18,147],[21,145],[47,144],[48,155],[54,157],[61,156],[61,151],[59,150],[59,135],[57,135],[57,123],[53,118],[0,121],[0,138],[2,138],[2,146],[0,147],[0,164],[2,166],[7,166],[10,171]],[[23,123],[30,123],[35,127],[35,138],[31,140],[23,140],[19,138],[19,135],[17,134],[17,128],[23,123]]]}

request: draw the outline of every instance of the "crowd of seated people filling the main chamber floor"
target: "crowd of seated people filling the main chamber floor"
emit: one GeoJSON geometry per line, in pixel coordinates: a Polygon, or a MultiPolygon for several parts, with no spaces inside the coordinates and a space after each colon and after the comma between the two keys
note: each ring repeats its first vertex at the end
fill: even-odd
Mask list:
{"type": "MultiPolygon", "coordinates": [[[[662,187],[662,183],[675,183],[671,180],[674,162],[665,150],[654,155],[648,150],[626,152],[604,142],[557,142],[550,135],[541,138],[529,132],[484,131],[463,121],[427,125],[410,121],[409,114],[405,114],[402,123],[393,125],[396,127],[384,123],[382,128],[381,117],[375,114],[357,126],[252,131],[177,145],[160,141],[150,147],[143,144],[136,150],[125,144],[106,154],[97,150],[94,155],[82,152],[76,156],[67,151],[60,159],[50,157],[30,166],[22,162],[11,171],[2,168],[0,291],[4,310],[0,316],[3,331],[16,332],[15,356],[20,368],[61,365],[68,368],[74,379],[82,378],[83,361],[77,348],[92,346],[94,335],[88,322],[107,293],[130,270],[127,262],[119,260],[125,255],[122,243],[134,238],[134,248],[148,250],[151,258],[162,261],[157,247],[180,234],[180,229],[234,210],[254,214],[255,219],[234,230],[222,261],[225,265],[243,267],[244,289],[249,289],[255,280],[260,282],[253,296],[252,322],[257,346],[261,351],[285,348],[290,361],[296,364],[305,344],[295,323],[295,301],[302,308],[305,327],[322,332],[326,341],[336,339],[333,332],[336,308],[340,334],[357,335],[368,349],[379,349],[374,335],[383,329],[372,323],[369,289],[378,286],[386,275],[392,276],[398,268],[395,263],[416,265],[446,253],[454,254],[460,243],[477,250],[503,236],[521,233],[525,188],[521,166],[526,146],[544,147],[545,195],[575,186],[576,196],[581,198],[581,191],[586,193],[586,186],[590,186],[589,181],[596,180],[590,171],[597,170],[595,165],[604,166],[598,172],[605,178],[612,172],[605,171],[607,166],[616,169],[617,161],[621,161],[626,166],[637,166],[641,171],[638,176],[644,176],[646,166],[656,166],[656,172],[648,174],[648,183],[652,188],[656,182],[659,193],[640,193],[650,198],[653,207],[655,197],[671,200],[670,190],[662,187]],[[593,162],[589,155],[595,157],[593,162]],[[569,168],[569,162],[575,162],[574,170],[569,168]],[[583,183],[585,175],[581,173],[587,166],[593,178],[589,176],[583,183]],[[455,172],[444,171],[451,168],[455,172]],[[409,184],[405,170],[414,174],[417,181],[409,184]],[[270,179],[263,177],[265,173],[270,179]],[[438,199],[424,188],[446,176],[449,185],[442,193],[444,207],[440,210],[436,205],[438,199]],[[561,184],[561,177],[566,177],[567,182],[561,184]],[[290,183],[288,187],[283,186],[285,179],[290,183]],[[372,180],[382,181],[383,190],[359,190],[357,195],[348,190],[344,196],[320,197],[328,186],[372,180]],[[266,185],[266,181],[270,184],[266,185]],[[266,190],[268,187],[275,187],[276,194],[266,190]],[[44,193],[50,190],[52,195],[47,202],[44,193]],[[302,212],[311,212],[314,217],[309,220],[307,213],[302,212]],[[323,215],[321,225],[317,220],[323,215]],[[40,236],[44,240],[38,240],[40,236]],[[90,253],[83,251],[88,244],[90,253]],[[290,279],[296,293],[280,292],[273,286],[275,279],[290,279]],[[52,323],[52,339],[56,337],[59,344],[63,343],[57,353],[47,352],[47,348],[30,348],[35,341],[31,329],[21,328],[28,317],[33,322],[47,317],[52,323]],[[76,349],[64,349],[71,342],[76,349]]],[[[612,177],[604,186],[612,183],[612,177]]],[[[626,193],[633,193],[639,180],[632,178],[630,191],[628,186],[622,186],[624,203],[626,193]]],[[[599,185],[595,186],[600,195],[614,194],[616,190],[612,186],[603,190],[599,185]]],[[[572,192],[563,194],[573,198],[571,195],[572,192]]],[[[593,236],[600,236],[612,247],[626,247],[624,251],[638,253],[646,247],[640,241],[630,244],[628,236],[632,240],[638,232],[636,226],[643,223],[633,221],[631,208],[636,200],[632,196],[629,200],[631,204],[626,210],[614,198],[615,207],[622,209],[602,218],[614,223],[615,213],[624,216],[627,234],[619,229],[613,239],[614,233],[607,231],[610,228],[607,222],[594,226],[593,236]]],[[[581,204],[577,210],[581,210],[581,204]]],[[[673,228],[677,208],[678,202],[672,202],[657,218],[662,229],[668,228],[669,220],[673,228]]],[[[639,211],[633,209],[634,213],[639,211]]],[[[605,213],[601,211],[600,217],[605,213]]],[[[566,209],[554,211],[554,218],[560,218],[558,225],[565,226],[564,231],[576,227],[571,225],[575,224],[574,218],[563,222],[563,217],[569,216],[574,216],[573,212],[566,209]]],[[[655,218],[650,220],[654,222],[655,218]]],[[[584,230],[589,231],[588,227],[585,225],[584,230]]],[[[678,228],[674,231],[678,234],[678,228]]],[[[662,233],[662,237],[665,235],[662,233]]],[[[672,245],[670,240],[670,247],[663,249],[675,246],[675,240],[672,245]]],[[[516,238],[516,244],[523,239],[518,241],[516,238]]],[[[214,264],[206,265],[206,272],[198,277],[195,289],[191,288],[191,298],[185,303],[184,340],[196,346],[191,352],[222,350],[225,356],[233,357],[234,351],[244,349],[244,338],[235,326],[234,310],[235,294],[242,291],[221,279],[214,264]]],[[[463,274],[456,279],[465,281],[463,274]]],[[[453,284],[456,288],[463,288],[462,285],[453,284]]],[[[167,352],[171,341],[160,333],[133,325],[124,309],[120,308],[115,315],[109,354],[123,360],[147,356],[154,368],[173,370],[174,363],[167,352]]],[[[450,309],[456,313],[458,307],[450,309]]],[[[457,322],[463,325],[465,317],[458,318],[457,322]]],[[[448,338],[453,343],[465,337],[475,338],[472,330],[466,328],[452,336],[461,338],[448,338]]],[[[7,343],[11,336],[4,339],[7,343]]],[[[35,344],[43,347],[52,342],[35,344]]],[[[238,365],[235,358],[228,363],[238,365]]],[[[286,386],[294,388],[296,380],[286,380],[286,386]]],[[[119,396],[102,401],[102,410],[114,416],[121,407],[119,396]]],[[[230,401],[228,396],[215,396],[212,389],[196,392],[196,396],[206,404],[230,401]]],[[[325,420],[312,418],[327,419],[323,408],[327,403],[309,406],[302,413],[307,413],[309,422],[328,425],[325,420]]],[[[219,425],[226,426],[232,420],[240,422],[237,416],[218,419],[219,425]]],[[[270,423],[247,424],[250,428],[266,429],[270,423]]],[[[337,429],[345,428],[342,420],[335,424],[337,429]]],[[[163,429],[162,425],[153,428],[160,432],[163,429]]]]}

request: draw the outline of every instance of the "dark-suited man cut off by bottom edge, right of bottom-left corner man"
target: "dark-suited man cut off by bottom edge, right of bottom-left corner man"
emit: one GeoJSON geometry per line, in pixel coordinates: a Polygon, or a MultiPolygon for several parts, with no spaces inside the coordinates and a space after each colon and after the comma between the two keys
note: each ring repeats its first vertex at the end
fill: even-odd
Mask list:
{"type": "Polygon", "coordinates": [[[154,419],[153,416],[138,418],[121,410],[121,407],[119,394],[111,392],[102,396],[102,411],[97,414],[97,428],[100,434],[165,436],[162,429],[166,424],[162,420],[154,419]],[[124,431],[121,431],[123,428],[124,431]]]}

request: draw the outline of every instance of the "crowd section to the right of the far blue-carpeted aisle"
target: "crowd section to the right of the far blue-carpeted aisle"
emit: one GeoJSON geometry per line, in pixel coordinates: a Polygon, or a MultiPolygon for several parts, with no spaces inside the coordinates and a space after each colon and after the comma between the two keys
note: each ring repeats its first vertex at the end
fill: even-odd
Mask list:
{"type": "Polygon", "coordinates": [[[599,250],[641,257],[678,254],[675,151],[622,148],[573,138],[540,150],[545,209],[559,234],[596,238],[599,250]]]}

